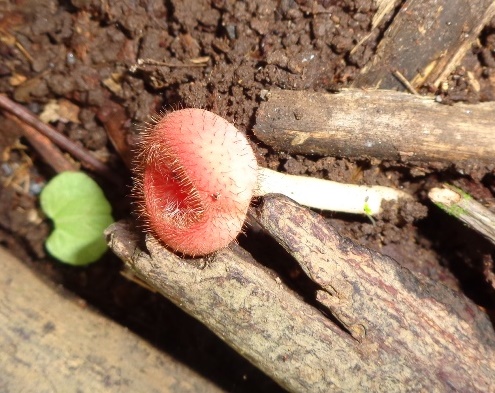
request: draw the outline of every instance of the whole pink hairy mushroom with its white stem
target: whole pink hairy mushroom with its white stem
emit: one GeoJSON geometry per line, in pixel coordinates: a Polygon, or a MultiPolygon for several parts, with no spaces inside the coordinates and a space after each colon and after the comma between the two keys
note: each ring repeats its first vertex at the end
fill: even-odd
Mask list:
{"type": "Polygon", "coordinates": [[[138,194],[147,226],[169,248],[205,255],[242,229],[250,201],[282,193],[325,210],[373,215],[408,197],[381,186],[341,184],[259,168],[246,137],[224,118],[183,109],[156,121],[140,144],[138,194]]]}

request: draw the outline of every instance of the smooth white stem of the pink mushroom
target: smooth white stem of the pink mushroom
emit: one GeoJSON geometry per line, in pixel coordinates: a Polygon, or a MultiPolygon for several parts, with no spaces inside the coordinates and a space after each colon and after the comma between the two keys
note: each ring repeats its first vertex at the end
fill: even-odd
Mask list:
{"type": "Polygon", "coordinates": [[[384,186],[360,186],[306,176],[294,176],[258,168],[255,196],[284,194],[301,205],[343,213],[375,215],[383,201],[411,198],[407,193],[384,186]]]}

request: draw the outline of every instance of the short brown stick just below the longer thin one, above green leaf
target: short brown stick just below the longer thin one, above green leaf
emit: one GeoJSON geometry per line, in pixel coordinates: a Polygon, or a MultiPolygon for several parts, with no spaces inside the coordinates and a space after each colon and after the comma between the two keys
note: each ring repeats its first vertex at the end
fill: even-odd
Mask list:
{"type": "Polygon", "coordinates": [[[36,149],[45,162],[57,173],[63,171],[76,171],[76,166],[64,157],[62,152],[46,136],[40,134],[30,125],[23,123],[19,118],[4,112],[4,116],[15,122],[22,130],[23,135],[29,143],[36,149]]]}

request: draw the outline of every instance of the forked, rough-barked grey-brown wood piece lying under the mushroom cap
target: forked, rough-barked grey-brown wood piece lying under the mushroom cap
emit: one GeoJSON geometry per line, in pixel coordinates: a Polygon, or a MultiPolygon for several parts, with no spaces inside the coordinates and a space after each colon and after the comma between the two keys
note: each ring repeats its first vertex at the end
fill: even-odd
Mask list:
{"type": "Polygon", "coordinates": [[[257,219],[321,285],[324,307],[354,338],[239,248],[182,259],[129,226],[107,230],[145,282],[289,391],[486,391],[495,372],[487,316],[462,295],[414,277],[341,238],[289,199],[267,197],[257,219]]]}

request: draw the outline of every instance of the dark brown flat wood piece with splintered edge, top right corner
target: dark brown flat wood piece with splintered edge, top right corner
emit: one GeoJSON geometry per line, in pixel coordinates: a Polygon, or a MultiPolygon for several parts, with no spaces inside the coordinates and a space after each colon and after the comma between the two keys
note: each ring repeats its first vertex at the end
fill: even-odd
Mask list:
{"type": "Polygon", "coordinates": [[[438,86],[494,15],[492,0],[407,0],[353,86],[404,90],[394,70],[414,87],[438,86]]]}

